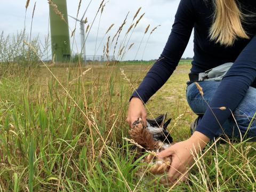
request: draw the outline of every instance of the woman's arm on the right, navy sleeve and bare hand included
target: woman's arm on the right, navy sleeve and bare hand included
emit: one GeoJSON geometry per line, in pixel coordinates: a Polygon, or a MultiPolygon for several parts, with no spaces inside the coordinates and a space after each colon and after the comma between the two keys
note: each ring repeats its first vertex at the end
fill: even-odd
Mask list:
{"type": "MultiPolygon", "coordinates": [[[[159,157],[172,156],[173,162],[169,171],[169,179],[175,182],[175,179],[183,177],[186,167],[191,165],[193,158],[189,149],[195,146],[196,150],[203,149],[210,139],[213,139],[215,133],[220,129],[220,124],[226,121],[231,115],[231,111],[239,105],[244,98],[249,86],[256,78],[256,36],[239,54],[228,73],[222,79],[222,82],[214,94],[210,103],[211,110],[207,109],[200,124],[196,127],[195,133],[188,139],[179,142],[172,147],[159,153],[159,157]],[[227,107],[226,110],[220,110],[219,107],[227,107]],[[231,111],[230,111],[230,110],[231,111]],[[212,114],[212,111],[214,115],[212,114]],[[216,118],[218,121],[216,120],[216,118]],[[199,139],[195,139],[196,137],[199,139]],[[196,146],[200,146],[197,148],[196,146]],[[178,171],[177,171],[178,170],[178,171]]],[[[194,147],[193,147],[194,148],[194,147]]],[[[185,180],[183,178],[181,180],[185,180]]]]}

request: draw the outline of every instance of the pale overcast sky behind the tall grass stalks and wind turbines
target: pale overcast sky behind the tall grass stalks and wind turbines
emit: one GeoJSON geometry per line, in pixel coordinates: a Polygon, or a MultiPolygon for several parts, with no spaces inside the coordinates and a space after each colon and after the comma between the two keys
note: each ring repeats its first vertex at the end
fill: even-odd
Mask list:
{"type": "MultiPolygon", "coordinates": [[[[4,34],[15,34],[17,31],[23,29],[24,20],[25,20],[25,4],[26,0],[0,0],[0,31],[4,31],[4,34]]],[[[68,14],[76,17],[77,7],[79,0],[67,0],[68,5],[68,14]]],[[[95,13],[98,10],[101,0],[93,0],[89,10],[87,11],[85,17],[88,18],[89,23],[93,21],[95,13]]],[[[105,1],[107,2],[107,1],[105,1]]],[[[145,13],[145,16],[141,19],[138,27],[134,30],[134,33],[130,39],[130,43],[135,43],[132,49],[127,52],[125,56],[125,60],[133,60],[136,52],[138,51],[139,44],[143,37],[145,28],[150,24],[150,29],[153,29],[157,25],[161,25],[150,37],[149,42],[146,47],[145,55],[143,59],[157,59],[159,55],[163,51],[163,47],[167,41],[168,36],[170,35],[172,24],[174,21],[174,15],[177,11],[178,4],[180,0],[109,0],[106,3],[105,9],[102,13],[97,47],[99,46],[101,39],[104,37],[106,30],[108,27],[115,23],[115,26],[111,29],[109,35],[112,37],[118,30],[119,26],[123,22],[127,12],[130,11],[128,21],[124,27],[124,31],[121,35],[124,37],[124,33],[127,31],[127,28],[130,27],[133,15],[139,7],[142,7],[139,16],[142,13],[145,13]]],[[[33,12],[33,6],[35,1],[30,0],[30,4],[27,11],[27,19],[26,19],[26,28],[27,31],[30,29],[31,22],[31,13],[33,12]]],[[[85,11],[89,0],[82,0],[81,10],[78,15],[78,19],[82,17],[83,12],[85,11]]],[[[69,27],[71,30],[75,28],[76,22],[74,19],[69,18],[69,27]]],[[[47,36],[48,31],[48,23],[49,23],[49,5],[46,0],[39,0],[36,2],[36,10],[33,21],[33,36],[39,35],[39,38],[43,41],[44,37],[47,36]]],[[[95,52],[95,42],[97,37],[97,28],[99,25],[99,17],[95,20],[94,26],[89,34],[89,37],[86,41],[86,54],[94,55],[95,52]]],[[[71,35],[71,32],[69,32],[71,35]]],[[[145,43],[147,41],[149,33],[143,39],[142,45],[138,52],[138,55],[135,59],[142,59],[142,53],[145,47],[145,43]]],[[[193,37],[193,35],[191,35],[193,37]]],[[[72,41],[72,40],[71,40],[72,41]]],[[[74,47],[74,52],[77,52],[77,49],[80,51],[81,49],[81,41],[79,35],[79,23],[76,26],[76,34],[75,41],[77,44],[74,47]]],[[[107,36],[103,38],[102,44],[99,47],[96,55],[102,55],[103,45],[107,42],[107,36]]],[[[111,53],[110,53],[111,55],[111,53]]],[[[189,44],[183,57],[193,57],[193,38],[190,38],[189,44]]]]}

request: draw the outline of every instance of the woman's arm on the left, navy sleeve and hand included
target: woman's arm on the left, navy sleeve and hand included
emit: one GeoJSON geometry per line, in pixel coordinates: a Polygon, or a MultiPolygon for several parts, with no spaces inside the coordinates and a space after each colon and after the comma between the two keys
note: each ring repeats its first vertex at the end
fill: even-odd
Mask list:
{"type": "Polygon", "coordinates": [[[138,89],[132,94],[127,114],[127,122],[130,126],[139,116],[142,117],[143,122],[146,122],[146,110],[143,104],[163,86],[177,67],[194,27],[194,14],[191,0],[181,0],[175,14],[171,34],[161,57],[154,63],[138,89]]]}

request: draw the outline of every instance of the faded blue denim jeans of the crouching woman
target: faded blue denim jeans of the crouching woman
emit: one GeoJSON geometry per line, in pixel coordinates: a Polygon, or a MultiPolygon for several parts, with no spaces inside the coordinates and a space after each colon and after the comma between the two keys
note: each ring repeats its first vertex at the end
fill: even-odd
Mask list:
{"type": "MultiPolygon", "coordinates": [[[[204,98],[207,103],[210,103],[215,91],[218,89],[219,81],[203,81],[198,82],[203,87],[204,98]]],[[[202,95],[197,90],[195,83],[187,86],[186,90],[187,101],[190,108],[197,114],[198,124],[200,123],[206,109],[208,108],[202,95]]],[[[222,129],[215,134],[215,137],[226,134],[229,138],[239,139],[252,138],[250,141],[256,141],[256,119],[253,118],[256,113],[256,89],[250,87],[245,97],[239,103],[238,107],[233,111],[233,116],[230,116],[225,123],[222,124],[222,129]],[[236,124],[237,123],[237,124],[236,124]],[[238,125],[238,127],[237,127],[238,125]],[[250,125],[250,126],[249,126],[250,125]],[[241,132],[241,134],[240,134],[241,132]]]]}

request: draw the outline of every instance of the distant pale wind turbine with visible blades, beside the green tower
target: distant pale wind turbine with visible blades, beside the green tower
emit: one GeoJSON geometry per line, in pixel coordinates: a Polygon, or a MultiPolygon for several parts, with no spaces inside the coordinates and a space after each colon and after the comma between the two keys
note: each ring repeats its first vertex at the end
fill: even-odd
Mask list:
{"type": "Polygon", "coordinates": [[[84,15],[87,12],[90,4],[91,4],[92,0],[90,1],[90,3],[88,4],[88,6],[86,7],[86,10],[83,14],[83,17],[81,19],[77,19],[72,17],[71,15],[68,15],[70,18],[75,19],[76,21],[78,21],[80,23],[80,35],[81,35],[81,52],[83,53],[83,58],[84,58],[84,62],[86,63],[86,50],[85,50],[85,32],[84,32],[84,25],[86,23],[86,20],[84,19],[84,15]]]}

